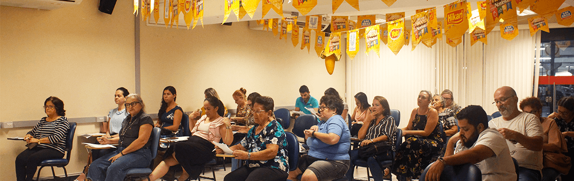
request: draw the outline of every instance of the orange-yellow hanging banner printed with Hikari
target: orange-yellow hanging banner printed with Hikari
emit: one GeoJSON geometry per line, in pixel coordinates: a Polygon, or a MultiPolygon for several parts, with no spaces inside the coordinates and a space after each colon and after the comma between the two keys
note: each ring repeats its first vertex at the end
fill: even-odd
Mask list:
{"type": "MultiPolygon", "coordinates": [[[[458,1],[444,5],[445,34],[452,42],[458,41],[468,29],[466,1],[458,1]]],[[[452,46],[452,45],[451,45],[452,46]]],[[[455,45],[456,46],[456,45],[455,45]]]]}

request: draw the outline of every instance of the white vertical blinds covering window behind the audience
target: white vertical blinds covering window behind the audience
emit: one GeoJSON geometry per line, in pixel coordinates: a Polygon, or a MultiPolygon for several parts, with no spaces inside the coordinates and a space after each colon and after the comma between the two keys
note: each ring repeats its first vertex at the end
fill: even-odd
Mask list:
{"type": "MultiPolygon", "coordinates": [[[[347,57],[347,103],[349,113],[355,108],[353,96],[366,93],[369,103],[374,96],[385,97],[391,109],[401,111],[401,126],[405,127],[410,113],[417,107],[420,90],[440,93],[450,89],[456,103],[462,107],[481,105],[490,115],[497,111],[492,105],[494,91],[501,86],[513,87],[519,99],[532,96],[534,77],[534,46],[536,36],[519,30],[514,40],[508,41],[493,31],[488,34],[488,45],[470,45],[465,34],[463,43],[455,48],[438,41],[432,48],[419,44],[414,51],[404,46],[395,56],[386,45],[381,45],[381,56],[360,52],[353,60],[347,57]]],[[[538,39],[540,41],[540,38],[538,39]]]]}

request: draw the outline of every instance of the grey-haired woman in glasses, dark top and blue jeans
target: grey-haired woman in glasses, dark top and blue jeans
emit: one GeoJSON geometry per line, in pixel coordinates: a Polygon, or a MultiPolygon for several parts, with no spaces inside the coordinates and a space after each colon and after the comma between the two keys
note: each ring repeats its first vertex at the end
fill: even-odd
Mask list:
{"type": "Polygon", "coordinates": [[[130,115],[119,131],[118,149],[92,162],[87,180],[123,180],[130,168],[144,168],[151,163],[152,118],[145,113],[144,101],[135,93],[127,95],[125,106],[130,115]]]}

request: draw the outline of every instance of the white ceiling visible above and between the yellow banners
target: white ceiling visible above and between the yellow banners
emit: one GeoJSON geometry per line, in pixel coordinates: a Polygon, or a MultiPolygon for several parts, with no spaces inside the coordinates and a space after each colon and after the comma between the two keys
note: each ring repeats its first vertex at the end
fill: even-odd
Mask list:
{"type": "MultiPolygon", "coordinates": [[[[160,7],[164,6],[164,1],[160,1],[160,7]]],[[[265,0],[263,0],[265,1],[265,0]]],[[[291,16],[292,12],[297,12],[292,5],[293,2],[289,2],[290,0],[285,0],[283,3],[283,13],[285,16],[291,16]]],[[[293,0],[297,2],[298,0],[293,0]]],[[[410,20],[410,16],[415,14],[415,10],[417,9],[424,9],[428,7],[437,7],[437,18],[444,17],[444,8],[443,5],[453,2],[454,0],[397,0],[392,6],[387,6],[381,0],[359,0],[359,9],[360,11],[356,10],[354,7],[351,7],[346,1],[342,3],[338,10],[335,13],[332,13],[332,1],[330,0],[317,0],[317,6],[315,6],[307,15],[317,15],[321,14],[324,16],[331,16],[331,15],[347,15],[347,16],[356,16],[356,15],[369,15],[369,14],[377,14],[377,18],[385,19],[384,15],[387,13],[398,13],[398,12],[405,12],[406,20],[410,20]]],[[[467,2],[471,2],[472,9],[477,9],[476,2],[478,0],[467,0],[467,2]]],[[[224,14],[224,5],[225,0],[204,0],[204,14],[203,14],[203,23],[204,25],[210,24],[220,24],[223,22],[223,14],[224,14]]],[[[265,18],[261,17],[262,14],[262,2],[259,2],[259,6],[255,11],[255,15],[253,18],[250,18],[249,15],[245,15],[239,21],[252,21],[258,19],[270,19],[270,18],[281,18],[280,15],[275,13],[275,11],[269,10],[269,13],[265,16],[265,18]]],[[[574,0],[566,0],[566,2],[560,7],[567,7],[567,6],[574,6],[574,0]]],[[[301,14],[299,14],[302,16],[301,14]]],[[[149,23],[155,23],[153,19],[153,14],[150,16],[149,23]]],[[[160,19],[158,20],[158,25],[164,25],[163,12],[160,10],[160,19]]],[[[350,17],[352,20],[356,20],[356,17],[350,17]]],[[[304,19],[298,19],[298,21],[305,21],[304,19]]],[[[237,17],[233,12],[230,13],[229,18],[226,22],[238,22],[237,17]]],[[[324,22],[328,23],[328,22],[324,22]]],[[[197,23],[201,25],[201,22],[197,23]]],[[[179,25],[185,26],[185,21],[183,19],[183,14],[179,16],[179,25]]]]}

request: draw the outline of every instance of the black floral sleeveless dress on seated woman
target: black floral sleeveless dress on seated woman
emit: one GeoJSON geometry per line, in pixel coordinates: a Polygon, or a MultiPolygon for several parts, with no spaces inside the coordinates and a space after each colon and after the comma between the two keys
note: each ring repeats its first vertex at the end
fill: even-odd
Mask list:
{"type": "MultiPolygon", "coordinates": [[[[418,111],[418,110],[417,110],[418,111]]],[[[405,141],[398,148],[391,170],[397,176],[418,179],[422,170],[432,163],[433,157],[440,156],[444,141],[437,122],[435,129],[429,136],[406,136],[405,141]]],[[[413,120],[413,130],[424,130],[426,115],[417,115],[413,120]]]]}

